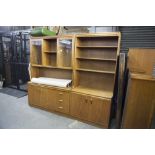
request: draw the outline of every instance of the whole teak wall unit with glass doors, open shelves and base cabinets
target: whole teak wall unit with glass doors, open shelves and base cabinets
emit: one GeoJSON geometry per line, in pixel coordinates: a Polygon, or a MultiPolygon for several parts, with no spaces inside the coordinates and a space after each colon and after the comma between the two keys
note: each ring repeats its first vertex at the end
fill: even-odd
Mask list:
{"type": "Polygon", "coordinates": [[[29,104],[108,128],[119,50],[119,32],[31,38],[31,78],[72,79],[72,86],[29,82],[29,104]]]}

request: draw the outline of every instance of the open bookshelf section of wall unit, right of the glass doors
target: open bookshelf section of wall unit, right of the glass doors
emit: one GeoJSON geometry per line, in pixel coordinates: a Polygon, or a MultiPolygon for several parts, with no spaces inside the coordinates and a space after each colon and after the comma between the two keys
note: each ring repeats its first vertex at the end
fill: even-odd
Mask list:
{"type": "Polygon", "coordinates": [[[76,35],[73,91],[112,98],[119,49],[117,32],[76,35]]]}

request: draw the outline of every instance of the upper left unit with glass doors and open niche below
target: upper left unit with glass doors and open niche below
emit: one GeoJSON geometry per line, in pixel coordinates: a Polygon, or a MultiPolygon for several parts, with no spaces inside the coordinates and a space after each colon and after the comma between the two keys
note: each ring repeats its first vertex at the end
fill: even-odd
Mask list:
{"type": "Polygon", "coordinates": [[[73,35],[31,37],[31,78],[72,79],[73,35]]]}

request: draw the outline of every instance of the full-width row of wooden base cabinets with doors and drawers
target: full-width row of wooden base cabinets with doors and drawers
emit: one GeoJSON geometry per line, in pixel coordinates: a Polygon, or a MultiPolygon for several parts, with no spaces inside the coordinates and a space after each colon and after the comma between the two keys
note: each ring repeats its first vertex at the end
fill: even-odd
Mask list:
{"type": "Polygon", "coordinates": [[[28,99],[32,106],[69,114],[108,128],[111,99],[31,83],[28,84],[28,99]]]}

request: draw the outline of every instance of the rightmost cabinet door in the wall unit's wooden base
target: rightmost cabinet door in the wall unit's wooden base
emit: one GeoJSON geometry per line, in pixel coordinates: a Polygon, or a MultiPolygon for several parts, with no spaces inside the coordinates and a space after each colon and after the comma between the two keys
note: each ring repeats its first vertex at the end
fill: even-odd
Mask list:
{"type": "Polygon", "coordinates": [[[108,127],[111,100],[89,97],[89,121],[108,127]]]}

